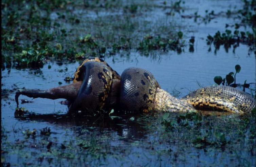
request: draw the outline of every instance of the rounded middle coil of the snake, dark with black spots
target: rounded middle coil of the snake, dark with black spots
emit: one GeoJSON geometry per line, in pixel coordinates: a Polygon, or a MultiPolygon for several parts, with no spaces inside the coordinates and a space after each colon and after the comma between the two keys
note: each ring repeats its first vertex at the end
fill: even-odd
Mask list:
{"type": "Polygon", "coordinates": [[[154,76],[147,70],[127,68],[121,76],[120,108],[146,113],[154,110],[156,89],[160,88],[154,76]]]}

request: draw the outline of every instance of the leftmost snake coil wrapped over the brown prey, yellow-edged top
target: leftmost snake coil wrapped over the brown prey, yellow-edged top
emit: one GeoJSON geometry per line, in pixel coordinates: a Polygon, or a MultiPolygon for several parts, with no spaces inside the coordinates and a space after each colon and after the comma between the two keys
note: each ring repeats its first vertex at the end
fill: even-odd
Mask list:
{"type": "Polygon", "coordinates": [[[73,82],[83,81],[70,112],[97,111],[103,108],[113,79],[120,79],[105,61],[94,57],[86,59],[76,70],[73,82]]]}

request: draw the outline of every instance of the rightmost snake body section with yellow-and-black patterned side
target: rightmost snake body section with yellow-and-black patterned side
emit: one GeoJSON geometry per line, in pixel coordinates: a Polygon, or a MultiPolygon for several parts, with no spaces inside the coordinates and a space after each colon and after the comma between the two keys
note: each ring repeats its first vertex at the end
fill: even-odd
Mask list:
{"type": "Polygon", "coordinates": [[[190,92],[182,101],[198,110],[211,110],[231,113],[250,113],[255,108],[255,99],[236,88],[229,86],[209,86],[190,92]]]}

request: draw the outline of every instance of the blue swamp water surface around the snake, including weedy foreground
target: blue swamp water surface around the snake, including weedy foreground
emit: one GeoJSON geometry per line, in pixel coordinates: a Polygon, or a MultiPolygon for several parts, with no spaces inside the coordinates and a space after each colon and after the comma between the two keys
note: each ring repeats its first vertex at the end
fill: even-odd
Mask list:
{"type": "MultiPolygon", "coordinates": [[[[185,3],[185,14],[198,10],[204,13],[211,5],[216,13],[225,11],[240,1],[193,1],[185,3]],[[217,3],[221,2],[221,3],[217,3]],[[233,3],[232,3],[233,2],[233,3]],[[196,5],[195,5],[196,4],[196,5]],[[202,5],[201,5],[202,4],[202,5]],[[207,5],[205,5],[207,4],[207,5]]],[[[156,2],[158,3],[158,1],[156,2]]],[[[149,21],[169,18],[165,11],[156,9],[156,16],[147,15],[149,21]]],[[[92,11],[93,13],[93,11],[92,11]]],[[[203,14],[202,14],[203,15],[203,14]]],[[[216,75],[225,76],[241,66],[237,83],[255,82],[255,56],[248,55],[248,47],[240,45],[235,53],[223,47],[215,54],[208,52],[205,39],[208,34],[224,31],[224,24],[233,19],[218,17],[208,24],[196,24],[191,19],[181,19],[181,29],[188,38],[195,36],[194,52],[153,51],[147,56],[131,51],[128,56],[116,54],[105,61],[119,74],[128,67],[140,67],[152,72],[162,89],[183,97],[201,86],[213,85],[216,75]],[[189,30],[188,30],[188,29],[189,30]],[[199,84],[198,84],[199,83],[199,84]]],[[[78,62],[56,61],[45,63],[41,69],[4,69],[4,90],[49,89],[59,86],[66,76],[73,76],[78,62]],[[48,69],[48,65],[51,66],[48,69]]],[[[249,93],[250,90],[247,90],[249,93]]],[[[237,115],[202,116],[195,120],[179,120],[178,113],[171,113],[170,128],[162,116],[121,115],[107,118],[69,118],[63,99],[20,99],[32,101],[20,104],[31,115],[15,118],[15,91],[1,100],[1,160],[11,166],[255,166],[255,118],[237,115]],[[47,115],[48,114],[48,115],[47,115]],[[182,123],[183,121],[183,123],[182,123]],[[187,121],[187,122],[186,122],[187,121]],[[187,123],[187,124],[186,124],[187,123]],[[35,129],[35,130],[33,130],[35,129]],[[47,134],[48,129],[50,132],[47,134]],[[28,131],[26,131],[28,130],[28,131]],[[33,132],[35,132],[33,134],[33,132]]],[[[110,111],[106,111],[110,112],[110,111]]]]}

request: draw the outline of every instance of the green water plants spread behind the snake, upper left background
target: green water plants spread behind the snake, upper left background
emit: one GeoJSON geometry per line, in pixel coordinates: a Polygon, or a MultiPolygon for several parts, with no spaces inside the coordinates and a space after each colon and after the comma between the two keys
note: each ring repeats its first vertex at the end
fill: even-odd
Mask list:
{"type": "MultiPolygon", "coordinates": [[[[169,7],[177,9],[178,5],[175,3],[169,7]]],[[[146,26],[147,21],[138,21],[136,15],[151,7],[118,1],[3,1],[2,67],[41,67],[43,60],[49,58],[103,57],[120,50],[137,48],[147,53],[151,49],[165,50],[162,45],[170,45],[171,50],[175,50],[177,45],[178,48],[183,47],[174,35],[175,30],[163,34],[170,34],[169,39],[163,39],[160,43],[154,41],[156,44],[152,44],[152,47],[145,41],[144,36],[154,32],[146,26]],[[77,7],[77,4],[84,6],[77,7]],[[96,13],[88,17],[77,13],[75,6],[77,9],[95,10],[96,13]],[[97,14],[98,11],[104,13],[107,10],[125,13],[125,16],[97,14]],[[141,27],[144,30],[137,35],[141,27]],[[140,40],[142,42],[138,42],[140,40]]]]}

